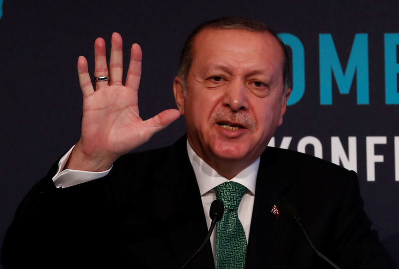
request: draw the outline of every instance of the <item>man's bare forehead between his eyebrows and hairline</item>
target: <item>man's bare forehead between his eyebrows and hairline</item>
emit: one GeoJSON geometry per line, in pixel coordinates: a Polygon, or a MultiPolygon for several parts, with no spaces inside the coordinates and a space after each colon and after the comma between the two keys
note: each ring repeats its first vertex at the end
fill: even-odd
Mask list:
{"type": "Polygon", "coordinates": [[[283,50],[273,35],[242,29],[201,30],[194,39],[193,54],[192,67],[226,61],[248,68],[278,70],[281,74],[284,61],[283,50]]]}

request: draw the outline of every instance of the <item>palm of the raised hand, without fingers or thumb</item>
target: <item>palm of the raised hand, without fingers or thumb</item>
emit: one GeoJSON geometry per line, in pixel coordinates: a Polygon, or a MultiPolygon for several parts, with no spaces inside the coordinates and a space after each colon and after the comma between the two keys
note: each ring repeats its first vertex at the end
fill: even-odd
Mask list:
{"type": "MultiPolygon", "coordinates": [[[[109,86],[83,100],[82,140],[86,150],[124,154],[146,142],[137,95],[125,86],[109,86]]],[[[146,137],[147,136],[147,137],[146,137]]],[[[87,152],[87,153],[89,153],[87,152]]]]}

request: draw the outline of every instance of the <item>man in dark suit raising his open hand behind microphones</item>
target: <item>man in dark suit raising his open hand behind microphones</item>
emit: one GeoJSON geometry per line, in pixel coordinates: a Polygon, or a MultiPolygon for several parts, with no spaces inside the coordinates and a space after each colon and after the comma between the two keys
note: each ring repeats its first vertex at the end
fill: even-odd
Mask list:
{"type": "Polygon", "coordinates": [[[174,80],[179,110],[147,121],[137,106],[141,49],[132,45],[124,86],[121,36],[111,43],[108,72],[104,40],[95,41],[95,90],[79,57],[81,137],[18,208],[2,249],[5,268],[180,268],[206,236],[210,203],[235,195],[224,186],[242,198],[234,209],[223,201],[216,236],[187,268],[330,268],[289,214],[279,217],[288,204],[338,266],[394,268],[370,230],[354,172],[266,149],[291,92],[287,51],[267,26],[242,18],[201,24],[174,80]],[[180,115],[187,138],[123,155],[180,115]]]}

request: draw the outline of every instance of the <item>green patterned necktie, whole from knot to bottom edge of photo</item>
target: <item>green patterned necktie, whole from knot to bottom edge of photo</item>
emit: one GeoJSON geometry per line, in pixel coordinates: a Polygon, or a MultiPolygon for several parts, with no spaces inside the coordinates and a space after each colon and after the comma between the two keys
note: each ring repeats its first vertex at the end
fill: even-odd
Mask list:
{"type": "Polygon", "coordinates": [[[246,187],[237,182],[224,182],[214,188],[216,199],[224,204],[222,219],[216,224],[216,268],[244,268],[246,238],[238,219],[238,206],[246,187]]]}

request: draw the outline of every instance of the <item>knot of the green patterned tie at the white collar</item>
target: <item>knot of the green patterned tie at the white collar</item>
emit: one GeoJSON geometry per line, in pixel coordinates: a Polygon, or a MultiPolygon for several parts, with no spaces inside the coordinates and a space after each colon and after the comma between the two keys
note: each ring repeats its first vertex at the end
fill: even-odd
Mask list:
{"type": "Polygon", "coordinates": [[[238,210],[242,196],[244,196],[247,188],[240,183],[234,181],[224,182],[214,187],[216,199],[224,204],[224,210],[238,210]]]}

